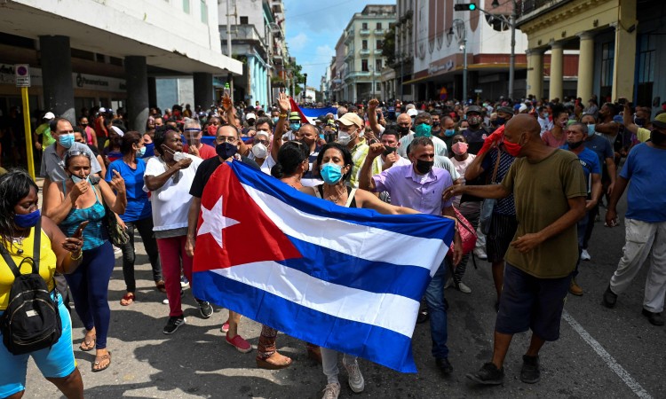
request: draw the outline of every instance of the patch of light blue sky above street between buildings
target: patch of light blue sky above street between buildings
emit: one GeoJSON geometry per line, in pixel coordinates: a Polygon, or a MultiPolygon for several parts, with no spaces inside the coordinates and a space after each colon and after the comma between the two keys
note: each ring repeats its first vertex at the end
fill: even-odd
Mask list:
{"type": "Polygon", "coordinates": [[[307,85],[319,88],[326,66],[336,54],[337,39],[355,12],[368,4],[396,4],[395,0],[283,0],[289,55],[307,74],[307,85]]]}

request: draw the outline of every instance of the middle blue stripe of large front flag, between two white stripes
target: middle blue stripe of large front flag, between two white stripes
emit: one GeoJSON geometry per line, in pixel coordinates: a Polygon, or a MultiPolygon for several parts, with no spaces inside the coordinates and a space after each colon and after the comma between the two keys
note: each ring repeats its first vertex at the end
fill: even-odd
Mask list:
{"type": "MultiPolygon", "coordinates": [[[[278,263],[339,286],[371,293],[393,293],[421,301],[430,281],[430,270],[422,267],[367,261],[325,246],[289,239],[303,257],[278,263]]],[[[399,246],[396,251],[400,251],[399,246]]]]}

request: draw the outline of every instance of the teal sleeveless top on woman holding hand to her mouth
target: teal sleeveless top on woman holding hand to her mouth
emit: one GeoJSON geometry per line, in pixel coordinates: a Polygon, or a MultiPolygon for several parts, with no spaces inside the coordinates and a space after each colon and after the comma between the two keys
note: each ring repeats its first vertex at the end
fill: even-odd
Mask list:
{"type": "MultiPolygon", "coordinates": [[[[67,237],[71,237],[83,221],[90,221],[86,228],[83,230],[83,251],[88,249],[97,248],[104,244],[108,239],[108,232],[104,222],[104,204],[99,200],[98,191],[94,185],[91,184],[92,190],[95,192],[95,203],[91,207],[83,209],[75,209],[69,211],[69,214],[60,224],[60,230],[65,233],[67,237]]],[[[62,182],[62,193],[67,195],[65,182],[62,182]]],[[[101,195],[101,194],[100,194],[101,195]]]]}

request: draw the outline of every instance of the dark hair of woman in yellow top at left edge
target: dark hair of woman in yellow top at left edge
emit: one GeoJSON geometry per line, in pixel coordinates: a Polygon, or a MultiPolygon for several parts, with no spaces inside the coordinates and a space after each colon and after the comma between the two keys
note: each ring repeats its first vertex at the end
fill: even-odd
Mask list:
{"type": "Polygon", "coordinates": [[[31,189],[39,192],[37,184],[23,169],[12,169],[0,176],[0,238],[5,245],[11,245],[12,238],[18,235],[14,224],[14,207],[28,197],[31,189]]]}

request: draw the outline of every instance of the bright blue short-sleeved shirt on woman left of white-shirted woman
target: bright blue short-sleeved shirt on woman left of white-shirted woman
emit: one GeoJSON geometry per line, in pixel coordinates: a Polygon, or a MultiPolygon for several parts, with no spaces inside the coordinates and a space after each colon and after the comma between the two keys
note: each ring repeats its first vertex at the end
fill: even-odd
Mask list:
{"type": "Polygon", "coordinates": [[[137,159],[137,168],[132,169],[123,159],[114,160],[107,169],[107,182],[115,176],[113,170],[117,170],[125,179],[127,190],[127,207],[125,213],[120,215],[123,222],[136,222],[147,217],[153,217],[153,207],[148,200],[147,192],[143,191],[143,175],[146,172],[146,160],[137,159]]]}

